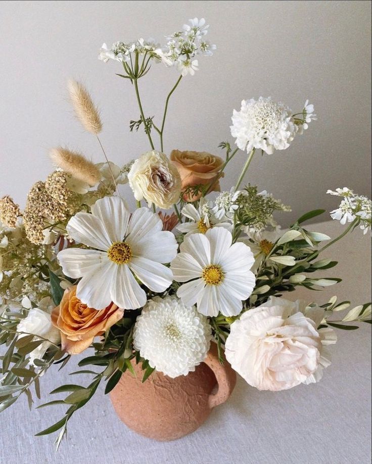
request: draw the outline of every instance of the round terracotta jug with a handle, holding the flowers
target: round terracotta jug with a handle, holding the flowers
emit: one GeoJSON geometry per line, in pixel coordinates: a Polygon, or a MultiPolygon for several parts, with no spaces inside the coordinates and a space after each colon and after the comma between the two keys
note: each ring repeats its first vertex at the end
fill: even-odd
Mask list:
{"type": "Polygon", "coordinates": [[[128,371],[110,393],[120,419],[148,438],[170,441],[198,429],[211,409],[227,400],[237,377],[231,366],[218,360],[212,343],[208,356],[195,372],[175,379],[154,372],[142,383],[141,364],[132,361],[136,377],[128,371]]]}

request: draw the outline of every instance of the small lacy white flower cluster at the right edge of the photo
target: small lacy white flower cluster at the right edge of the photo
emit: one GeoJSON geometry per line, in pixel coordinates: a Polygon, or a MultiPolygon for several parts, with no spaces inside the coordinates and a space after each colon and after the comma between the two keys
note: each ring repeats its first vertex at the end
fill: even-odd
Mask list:
{"type": "Polygon", "coordinates": [[[360,228],[363,234],[371,230],[371,200],[363,195],[355,195],[354,192],[347,187],[336,189],[336,191],[328,190],[328,194],[337,197],[343,197],[338,208],[331,211],[332,219],[340,221],[341,224],[352,222],[354,219],[360,219],[360,228]]]}

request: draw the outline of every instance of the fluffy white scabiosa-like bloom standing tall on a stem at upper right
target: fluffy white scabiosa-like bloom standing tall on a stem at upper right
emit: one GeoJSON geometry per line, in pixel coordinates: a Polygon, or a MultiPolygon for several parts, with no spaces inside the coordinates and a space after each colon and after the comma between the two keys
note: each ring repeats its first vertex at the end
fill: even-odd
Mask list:
{"type": "Polygon", "coordinates": [[[235,143],[248,153],[253,148],[269,155],[274,150],[285,150],[298,131],[290,108],[272,102],[270,97],[260,97],[258,101],[243,100],[240,111],[234,110],[231,120],[235,143]]]}

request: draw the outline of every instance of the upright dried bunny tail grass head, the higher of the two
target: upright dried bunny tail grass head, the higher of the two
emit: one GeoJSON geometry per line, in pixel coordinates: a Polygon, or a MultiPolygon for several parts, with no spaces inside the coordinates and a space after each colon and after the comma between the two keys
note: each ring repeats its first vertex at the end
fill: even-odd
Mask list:
{"type": "Polygon", "coordinates": [[[98,135],[102,130],[102,122],[97,106],[93,103],[89,92],[76,80],[68,81],[68,91],[75,113],[84,128],[98,135]]]}

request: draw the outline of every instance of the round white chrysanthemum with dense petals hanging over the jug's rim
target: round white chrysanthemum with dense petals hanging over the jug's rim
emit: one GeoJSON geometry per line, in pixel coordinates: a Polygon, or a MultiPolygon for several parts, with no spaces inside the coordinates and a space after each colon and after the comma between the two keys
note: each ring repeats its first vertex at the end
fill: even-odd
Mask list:
{"type": "Polygon", "coordinates": [[[155,297],[137,317],[133,346],[151,367],[169,377],[186,376],[207,356],[211,326],[195,306],[176,297],[155,297]]]}

